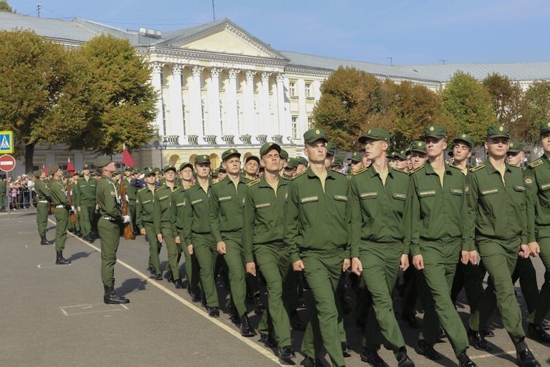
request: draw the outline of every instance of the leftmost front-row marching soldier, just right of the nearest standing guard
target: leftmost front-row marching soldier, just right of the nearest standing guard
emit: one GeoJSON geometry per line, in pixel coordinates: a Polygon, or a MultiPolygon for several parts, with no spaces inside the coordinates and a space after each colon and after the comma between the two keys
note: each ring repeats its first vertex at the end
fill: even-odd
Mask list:
{"type": "Polygon", "coordinates": [[[137,190],[135,200],[135,223],[140,229],[140,233],[146,236],[147,242],[149,242],[148,271],[151,272],[151,275],[155,275],[155,280],[162,280],[159,259],[162,242],[159,242],[153,225],[153,203],[155,202],[157,176],[151,168],[146,169],[144,175],[146,186],[137,190]]]}

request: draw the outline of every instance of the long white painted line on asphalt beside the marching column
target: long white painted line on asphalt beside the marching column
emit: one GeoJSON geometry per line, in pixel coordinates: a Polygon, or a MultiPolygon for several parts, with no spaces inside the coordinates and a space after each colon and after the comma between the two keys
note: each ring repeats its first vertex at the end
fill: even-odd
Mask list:
{"type": "MultiPolygon", "coordinates": [[[[48,218],[48,220],[52,223],[55,224],[55,222],[53,220],[51,220],[50,218],[48,218]]],[[[93,244],[89,243],[89,242],[86,242],[85,240],[83,240],[82,238],[78,238],[76,235],[70,233],[67,231],[67,234],[68,235],[72,235],[76,240],[79,240],[80,242],[82,242],[83,244],[86,244],[87,246],[91,247],[92,249],[98,251],[98,252],[101,252],[101,249],[94,246],[93,244]]],[[[161,291],[163,291],[164,293],[166,293],[167,295],[170,295],[170,297],[173,297],[175,300],[177,300],[179,303],[183,304],[184,306],[186,306],[187,308],[190,308],[192,311],[195,311],[197,314],[199,314],[201,317],[203,317],[204,319],[208,320],[209,322],[212,322],[212,324],[215,324],[216,326],[219,326],[219,328],[222,328],[224,331],[228,332],[230,335],[233,335],[234,337],[236,337],[237,339],[239,339],[241,342],[243,342],[244,344],[250,346],[250,348],[256,350],[256,352],[258,353],[261,353],[261,355],[263,355],[264,357],[266,357],[267,359],[270,359],[271,361],[274,361],[276,364],[278,364],[279,366],[284,366],[283,364],[281,364],[281,362],[279,361],[278,357],[276,355],[273,354],[272,350],[265,350],[265,348],[259,346],[258,344],[256,344],[255,342],[253,342],[251,339],[248,339],[248,338],[245,338],[245,337],[242,337],[241,336],[241,333],[239,333],[238,331],[236,331],[234,328],[224,324],[223,322],[221,322],[219,319],[215,319],[213,317],[209,317],[208,316],[208,313],[206,313],[203,309],[195,306],[195,304],[192,304],[192,302],[189,302],[188,300],[186,300],[185,298],[183,297],[180,297],[179,295],[177,295],[176,293],[174,293],[173,291],[170,291],[170,289],[166,288],[165,286],[163,286],[162,284],[160,284],[159,282],[151,279],[148,275],[145,275],[144,273],[142,273],[141,271],[138,271],[137,269],[135,269],[133,266],[129,265],[129,264],[126,264],[126,262],[123,262],[121,261],[120,259],[117,259],[116,262],[118,262],[118,264],[121,264],[122,266],[124,266],[126,269],[128,269],[129,271],[132,271],[133,273],[135,273],[136,275],[140,276],[142,278],[142,280],[145,280],[146,282],[148,282],[148,284],[151,284],[153,286],[156,286],[158,289],[160,289],[161,291]]]]}

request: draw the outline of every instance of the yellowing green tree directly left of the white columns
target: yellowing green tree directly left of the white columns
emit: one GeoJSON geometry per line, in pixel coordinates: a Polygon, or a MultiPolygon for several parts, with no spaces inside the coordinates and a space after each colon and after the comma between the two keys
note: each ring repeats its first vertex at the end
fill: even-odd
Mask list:
{"type": "Polygon", "coordinates": [[[93,92],[88,125],[69,147],[112,155],[123,144],[131,150],[151,143],[157,94],[149,82],[151,70],[129,41],[97,36],[78,50],[77,59],[87,65],[85,79],[93,92]]]}

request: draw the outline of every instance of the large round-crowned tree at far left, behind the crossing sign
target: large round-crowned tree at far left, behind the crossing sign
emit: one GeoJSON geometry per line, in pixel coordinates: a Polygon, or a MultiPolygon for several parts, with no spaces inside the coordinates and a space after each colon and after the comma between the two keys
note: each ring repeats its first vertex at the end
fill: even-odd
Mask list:
{"type": "Polygon", "coordinates": [[[68,54],[34,32],[0,32],[0,129],[14,132],[26,171],[32,170],[36,144],[67,143],[86,125],[68,54]]]}

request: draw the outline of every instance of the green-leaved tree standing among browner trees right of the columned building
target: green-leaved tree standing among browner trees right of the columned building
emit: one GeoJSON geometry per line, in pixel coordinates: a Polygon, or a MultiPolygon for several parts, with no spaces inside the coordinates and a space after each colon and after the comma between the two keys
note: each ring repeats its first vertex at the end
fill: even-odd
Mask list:
{"type": "Polygon", "coordinates": [[[469,133],[476,143],[485,140],[487,126],[497,123],[491,95],[470,74],[456,72],[441,90],[441,112],[460,132],[469,133]]]}

